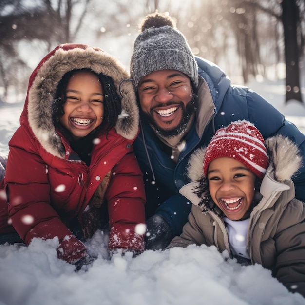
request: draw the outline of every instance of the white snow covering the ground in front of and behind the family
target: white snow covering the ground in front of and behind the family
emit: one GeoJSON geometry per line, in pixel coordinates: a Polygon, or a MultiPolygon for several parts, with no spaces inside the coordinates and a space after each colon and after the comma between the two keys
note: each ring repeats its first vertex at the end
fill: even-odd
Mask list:
{"type": "MultiPolygon", "coordinates": [[[[279,109],[305,133],[305,106],[284,103],[284,81],[252,80],[250,88],[279,109]]],[[[305,101],[305,86],[302,87],[305,101]]],[[[0,152],[19,126],[23,103],[0,104],[0,152]]],[[[107,253],[107,232],[86,243],[98,255],[87,270],[57,259],[58,240],[34,239],[0,246],[0,305],[305,305],[260,265],[242,266],[215,247],[194,245],[166,251],[107,253]]]]}

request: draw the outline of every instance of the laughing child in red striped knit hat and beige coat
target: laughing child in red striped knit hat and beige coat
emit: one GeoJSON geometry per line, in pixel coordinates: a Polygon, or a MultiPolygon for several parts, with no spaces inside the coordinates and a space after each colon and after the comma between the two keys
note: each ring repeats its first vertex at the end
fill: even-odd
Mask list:
{"type": "Polygon", "coordinates": [[[253,124],[236,121],[192,155],[192,182],[180,190],[193,203],[189,222],[168,248],[214,245],[305,296],[305,204],[291,181],[301,157],[281,135],[266,145],[253,124]]]}

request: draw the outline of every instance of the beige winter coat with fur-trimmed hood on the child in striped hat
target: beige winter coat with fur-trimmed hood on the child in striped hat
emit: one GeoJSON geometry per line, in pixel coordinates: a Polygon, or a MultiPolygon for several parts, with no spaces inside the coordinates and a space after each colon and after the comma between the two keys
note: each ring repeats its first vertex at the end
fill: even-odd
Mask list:
{"type": "MultiPolygon", "coordinates": [[[[297,147],[288,138],[278,135],[267,139],[266,144],[271,154],[270,165],[260,188],[263,198],[250,216],[247,249],[252,264],[270,269],[290,291],[305,296],[305,204],[294,198],[291,181],[301,159],[297,147]]],[[[204,153],[204,149],[198,150],[190,159],[192,182],[180,193],[193,205],[182,234],[168,248],[205,244],[231,253],[223,219],[212,211],[203,213],[194,191],[203,174],[200,169],[204,153]]]]}

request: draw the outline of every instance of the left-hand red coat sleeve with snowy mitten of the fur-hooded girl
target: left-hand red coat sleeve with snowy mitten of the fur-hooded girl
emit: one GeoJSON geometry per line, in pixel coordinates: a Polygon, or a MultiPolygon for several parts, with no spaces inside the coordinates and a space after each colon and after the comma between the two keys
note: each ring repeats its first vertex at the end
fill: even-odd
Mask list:
{"type": "Polygon", "coordinates": [[[86,248],[50,205],[46,165],[35,146],[25,150],[12,143],[5,174],[9,221],[26,244],[34,237],[52,239],[57,236],[60,243],[58,257],[74,263],[85,256],[86,248]]]}

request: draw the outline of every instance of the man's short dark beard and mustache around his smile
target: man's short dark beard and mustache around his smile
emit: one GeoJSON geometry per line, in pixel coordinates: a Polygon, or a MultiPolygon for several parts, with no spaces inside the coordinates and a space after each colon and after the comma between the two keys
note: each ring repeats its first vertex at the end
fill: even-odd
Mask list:
{"type": "MultiPolygon", "coordinates": [[[[177,104],[177,103],[175,103],[177,104]]],[[[180,123],[172,128],[172,129],[163,129],[160,128],[155,120],[153,119],[153,110],[151,111],[151,114],[147,114],[142,112],[143,116],[148,120],[149,124],[154,128],[155,132],[159,134],[163,138],[172,138],[179,134],[185,133],[188,129],[188,123],[192,118],[192,115],[196,111],[196,99],[195,95],[193,94],[191,97],[191,100],[186,104],[184,107],[184,104],[182,102],[178,103],[180,107],[182,108],[182,118],[180,123]]],[[[167,105],[171,105],[171,103],[168,103],[167,105]]]]}

